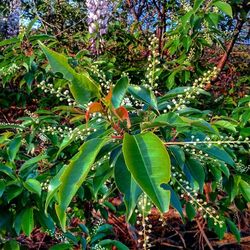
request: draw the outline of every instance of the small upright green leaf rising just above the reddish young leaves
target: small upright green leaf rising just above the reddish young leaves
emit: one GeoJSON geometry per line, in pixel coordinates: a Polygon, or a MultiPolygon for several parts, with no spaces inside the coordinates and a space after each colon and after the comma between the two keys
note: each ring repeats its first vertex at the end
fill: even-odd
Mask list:
{"type": "Polygon", "coordinates": [[[121,102],[127,92],[129,85],[129,78],[127,76],[119,79],[112,91],[112,104],[114,108],[118,108],[121,106],[121,102]]]}

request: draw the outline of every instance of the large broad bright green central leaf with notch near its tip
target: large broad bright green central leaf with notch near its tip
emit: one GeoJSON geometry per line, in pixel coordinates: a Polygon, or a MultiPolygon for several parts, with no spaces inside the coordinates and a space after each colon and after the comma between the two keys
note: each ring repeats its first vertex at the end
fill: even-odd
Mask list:
{"type": "Polygon", "coordinates": [[[125,134],[123,155],[128,170],[161,212],[168,211],[170,192],[161,185],[170,180],[170,157],[162,141],[152,132],[125,134]]]}

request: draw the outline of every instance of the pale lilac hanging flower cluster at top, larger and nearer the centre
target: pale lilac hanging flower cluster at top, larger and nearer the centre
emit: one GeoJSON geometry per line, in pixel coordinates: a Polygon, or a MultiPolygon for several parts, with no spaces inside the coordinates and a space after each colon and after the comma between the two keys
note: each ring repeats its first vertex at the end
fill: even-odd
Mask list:
{"type": "Polygon", "coordinates": [[[96,48],[96,40],[100,39],[103,42],[102,36],[108,32],[108,20],[110,17],[109,12],[109,1],[108,0],[87,0],[87,15],[88,15],[88,26],[89,33],[95,35],[92,38],[92,50],[98,52],[96,48]]]}

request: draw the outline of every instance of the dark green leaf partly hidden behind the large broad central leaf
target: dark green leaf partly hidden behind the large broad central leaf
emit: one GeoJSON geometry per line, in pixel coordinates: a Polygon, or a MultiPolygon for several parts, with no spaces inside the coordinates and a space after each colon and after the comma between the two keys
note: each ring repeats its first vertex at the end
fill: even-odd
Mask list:
{"type": "Polygon", "coordinates": [[[114,178],[118,189],[124,194],[126,217],[129,221],[136,207],[137,200],[142,193],[142,190],[136,184],[133,177],[131,176],[131,173],[128,171],[122,154],[119,155],[115,162],[114,178]]]}

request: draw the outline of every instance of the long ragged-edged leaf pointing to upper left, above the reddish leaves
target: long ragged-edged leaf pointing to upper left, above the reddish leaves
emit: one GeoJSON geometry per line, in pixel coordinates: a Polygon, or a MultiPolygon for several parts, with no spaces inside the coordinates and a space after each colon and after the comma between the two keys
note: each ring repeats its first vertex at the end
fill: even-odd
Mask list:
{"type": "Polygon", "coordinates": [[[44,54],[47,56],[54,73],[61,73],[64,79],[71,82],[70,91],[75,100],[84,105],[93,97],[100,96],[100,87],[89,77],[87,72],[77,73],[69,64],[67,58],[39,42],[44,54]]]}

